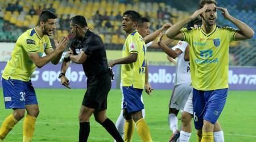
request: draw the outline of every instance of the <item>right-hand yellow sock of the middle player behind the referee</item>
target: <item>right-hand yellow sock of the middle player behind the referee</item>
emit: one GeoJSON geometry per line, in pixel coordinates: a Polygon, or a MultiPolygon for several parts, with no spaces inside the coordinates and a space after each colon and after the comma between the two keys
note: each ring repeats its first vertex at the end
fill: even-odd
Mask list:
{"type": "Polygon", "coordinates": [[[150,130],[147,127],[147,124],[143,118],[137,121],[136,126],[139,136],[141,137],[143,142],[152,142],[150,130]]]}

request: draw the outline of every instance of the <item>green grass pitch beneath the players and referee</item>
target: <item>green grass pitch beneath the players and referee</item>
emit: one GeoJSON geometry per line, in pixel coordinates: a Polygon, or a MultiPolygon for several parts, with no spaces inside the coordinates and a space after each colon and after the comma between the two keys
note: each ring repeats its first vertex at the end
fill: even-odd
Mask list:
{"type": "MultiPolygon", "coordinates": [[[[36,121],[33,141],[78,141],[78,114],[85,89],[35,89],[40,114],[36,121]]],[[[11,110],[5,110],[2,97],[0,99],[0,122],[11,110]]],[[[150,128],[153,141],[168,141],[171,132],[168,128],[168,103],[171,90],[154,90],[151,96],[143,93],[146,122],[150,128]]],[[[224,130],[225,141],[256,141],[256,91],[229,91],[220,123],[224,130]]],[[[108,117],[118,118],[121,107],[121,93],[113,89],[108,97],[108,117]]],[[[179,116],[180,117],[180,116],[179,116]]],[[[7,135],[5,141],[22,141],[21,120],[7,135]]],[[[180,125],[180,121],[179,121],[180,125]]],[[[191,141],[196,141],[195,129],[191,141]]],[[[88,141],[113,141],[112,137],[100,124],[90,119],[90,135],[88,141]]],[[[141,141],[135,131],[133,141],[141,141]]]]}

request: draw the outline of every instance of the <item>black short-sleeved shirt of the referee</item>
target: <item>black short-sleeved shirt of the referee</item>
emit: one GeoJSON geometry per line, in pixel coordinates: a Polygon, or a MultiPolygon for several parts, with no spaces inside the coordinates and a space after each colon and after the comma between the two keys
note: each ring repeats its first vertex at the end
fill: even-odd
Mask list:
{"type": "Polygon", "coordinates": [[[86,31],[84,39],[75,39],[71,44],[74,55],[79,55],[82,51],[88,56],[82,68],[88,79],[108,72],[108,60],[106,50],[101,37],[90,30],[86,31]]]}

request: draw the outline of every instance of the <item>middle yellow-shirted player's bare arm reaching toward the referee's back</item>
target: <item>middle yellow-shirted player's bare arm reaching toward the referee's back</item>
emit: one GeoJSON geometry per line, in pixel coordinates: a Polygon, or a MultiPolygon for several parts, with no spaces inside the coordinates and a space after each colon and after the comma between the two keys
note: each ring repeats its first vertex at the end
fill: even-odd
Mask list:
{"type": "Polygon", "coordinates": [[[138,53],[130,53],[130,55],[127,57],[109,61],[109,66],[113,67],[114,65],[117,65],[117,64],[130,64],[132,62],[137,61],[137,57],[138,57],[138,53]]]}

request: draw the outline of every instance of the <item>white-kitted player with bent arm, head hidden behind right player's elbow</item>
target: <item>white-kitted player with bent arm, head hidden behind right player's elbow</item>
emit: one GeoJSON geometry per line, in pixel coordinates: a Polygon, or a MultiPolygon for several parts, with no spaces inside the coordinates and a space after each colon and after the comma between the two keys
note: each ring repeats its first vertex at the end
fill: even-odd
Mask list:
{"type": "Polygon", "coordinates": [[[174,90],[172,91],[170,99],[168,115],[170,130],[172,130],[173,133],[170,137],[170,141],[176,141],[180,135],[179,130],[177,130],[177,114],[179,110],[183,110],[185,102],[193,90],[193,87],[191,86],[189,62],[184,60],[184,51],[188,46],[188,43],[179,41],[177,45],[171,49],[168,48],[166,44],[162,43],[161,37],[158,40],[160,48],[173,59],[177,58],[174,90]]]}

